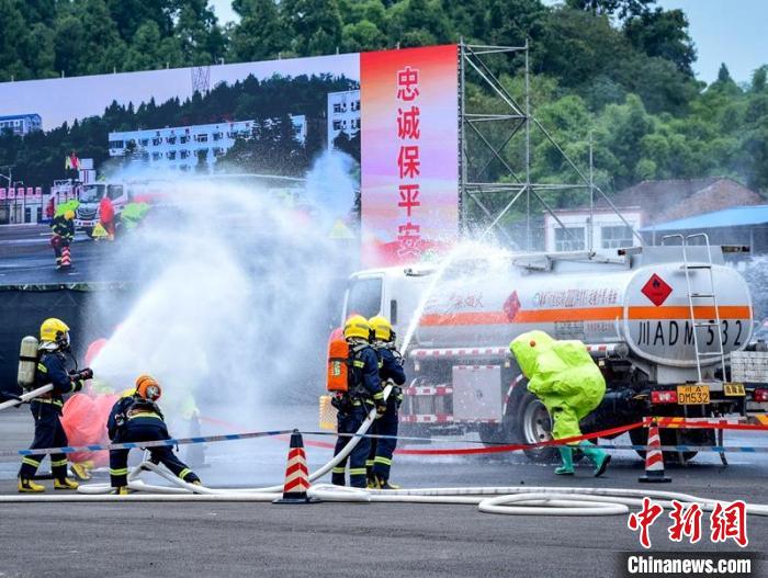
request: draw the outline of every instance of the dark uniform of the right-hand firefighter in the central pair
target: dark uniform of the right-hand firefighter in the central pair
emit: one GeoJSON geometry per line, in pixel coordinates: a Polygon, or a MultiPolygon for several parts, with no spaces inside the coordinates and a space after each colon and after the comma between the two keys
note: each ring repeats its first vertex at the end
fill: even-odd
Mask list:
{"type": "MultiPolygon", "coordinates": [[[[403,358],[394,345],[376,345],[374,349],[379,355],[379,376],[382,382],[392,379],[396,386],[405,383],[405,371],[403,370],[403,358]]],[[[386,399],[386,411],[382,417],[373,422],[373,432],[379,435],[397,435],[397,423],[399,421],[397,410],[403,403],[403,390],[393,387],[389,397],[386,399]]],[[[395,453],[397,440],[382,438],[373,439],[371,453],[366,466],[374,476],[380,479],[389,479],[389,468],[392,467],[392,455],[395,453]]]]}

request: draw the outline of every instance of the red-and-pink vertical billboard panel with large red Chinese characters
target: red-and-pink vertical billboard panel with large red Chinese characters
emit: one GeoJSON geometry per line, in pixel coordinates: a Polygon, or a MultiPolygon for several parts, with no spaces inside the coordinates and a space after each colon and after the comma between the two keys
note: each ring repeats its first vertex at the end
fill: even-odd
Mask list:
{"type": "Polygon", "coordinates": [[[419,261],[458,234],[456,46],[364,53],[360,65],[364,260],[419,261]]]}

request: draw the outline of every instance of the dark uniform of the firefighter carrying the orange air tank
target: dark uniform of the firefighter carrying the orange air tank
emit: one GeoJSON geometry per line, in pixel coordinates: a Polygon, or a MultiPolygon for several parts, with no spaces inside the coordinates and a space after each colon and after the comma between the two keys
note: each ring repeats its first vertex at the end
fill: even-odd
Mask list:
{"type": "MultiPolygon", "coordinates": [[[[337,431],[354,433],[365,421],[368,412],[384,398],[381,379],[379,378],[379,358],[368,343],[352,344],[350,383],[348,392],[339,398],[337,405],[337,431]]],[[[351,438],[339,437],[336,441],[337,455],[349,443],[351,438]]],[[[371,439],[362,438],[349,454],[349,483],[355,488],[366,486],[365,461],[371,451],[371,439]]],[[[331,483],[345,485],[345,467],[347,460],[339,463],[331,472],[331,483]]]]}

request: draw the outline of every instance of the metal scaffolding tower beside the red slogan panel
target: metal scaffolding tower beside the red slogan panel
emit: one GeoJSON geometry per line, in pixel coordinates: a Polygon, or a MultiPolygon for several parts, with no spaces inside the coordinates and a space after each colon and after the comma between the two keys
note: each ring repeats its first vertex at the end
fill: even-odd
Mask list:
{"type": "Polygon", "coordinates": [[[540,206],[546,214],[565,230],[573,240],[572,231],[561,220],[557,213],[543,199],[543,192],[552,191],[588,191],[589,222],[587,247],[592,250],[592,220],[595,200],[602,199],[617,214],[621,222],[632,229],[632,234],[642,245],[643,239],[632,225],[621,215],[611,200],[595,184],[591,166],[591,136],[589,150],[589,170],[585,174],[563,148],[552,138],[546,128],[535,118],[530,101],[530,61],[528,41],[524,46],[485,46],[459,44],[459,206],[461,229],[463,235],[479,234],[485,236],[496,229],[513,248],[531,250],[532,247],[532,215],[540,206]],[[524,59],[524,94],[523,102],[510,94],[488,66],[488,55],[513,55],[524,59]],[[493,111],[467,110],[467,78],[493,97],[493,111]],[[500,112],[499,112],[500,111],[500,112]],[[487,127],[494,127],[501,137],[492,141],[487,127]],[[573,183],[537,183],[531,181],[531,134],[537,131],[544,140],[562,156],[566,166],[573,170],[573,183]],[[520,143],[522,140],[522,144],[520,143]],[[474,141],[474,144],[473,144],[474,141]],[[522,147],[522,158],[519,166],[512,166],[505,152],[511,146],[522,147]],[[489,158],[477,162],[484,151],[489,158]],[[489,169],[497,163],[502,169],[502,177],[489,179],[489,169]],[[499,223],[509,211],[520,201],[526,203],[526,234],[522,243],[516,241],[509,230],[500,227],[499,223]],[[474,204],[485,220],[474,222],[470,216],[470,203],[474,204]],[[501,208],[498,208],[498,207],[501,208]]]}

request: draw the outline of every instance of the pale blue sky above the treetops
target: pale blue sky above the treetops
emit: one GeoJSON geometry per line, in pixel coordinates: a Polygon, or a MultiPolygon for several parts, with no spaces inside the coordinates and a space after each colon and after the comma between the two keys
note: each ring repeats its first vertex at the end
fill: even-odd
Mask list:
{"type": "MultiPolygon", "coordinates": [[[[211,3],[222,22],[236,18],[230,0],[211,3]]],[[[688,14],[698,50],[693,69],[701,80],[712,82],[725,63],[734,80],[746,82],[756,68],[768,64],[768,0],[658,0],[658,5],[688,14]]]]}

